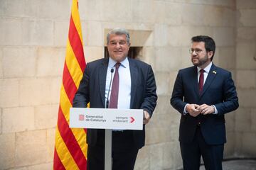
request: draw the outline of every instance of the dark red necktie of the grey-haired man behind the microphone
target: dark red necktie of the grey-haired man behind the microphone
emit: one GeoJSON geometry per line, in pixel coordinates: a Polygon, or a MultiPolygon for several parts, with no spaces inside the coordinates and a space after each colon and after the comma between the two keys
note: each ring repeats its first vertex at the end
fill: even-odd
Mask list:
{"type": "Polygon", "coordinates": [[[118,68],[120,66],[120,63],[117,62],[117,64],[114,64],[116,67],[116,70],[114,72],[114,78],[112,81],[112,88],[111,88],[111,95],[110,95],[110,108],[117,108],[118,103],[118,91],[119,91],[119,74],[118,74],[118,68]]]}

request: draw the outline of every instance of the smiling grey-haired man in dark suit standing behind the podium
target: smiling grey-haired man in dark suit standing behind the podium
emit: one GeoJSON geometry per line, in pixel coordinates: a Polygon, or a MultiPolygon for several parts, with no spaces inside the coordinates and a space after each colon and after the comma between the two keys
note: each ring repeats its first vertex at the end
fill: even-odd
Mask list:
{"type": "MultiPolygon", "coordinates": [[[[127,57],[129,33],[116,28],[107,34],[109,58],[87,63],[73,107],[144,110],[143,130],[112,131],[112,169],[132,170],[137,153],[144,146],[145,124],[156,106],[156,83],[149,64],[127,57]],[[112,79],[112,74],[114,74],[112,79]]],[[[87,129],[87,170],[104,169],[105,130],[87,129]]]]}

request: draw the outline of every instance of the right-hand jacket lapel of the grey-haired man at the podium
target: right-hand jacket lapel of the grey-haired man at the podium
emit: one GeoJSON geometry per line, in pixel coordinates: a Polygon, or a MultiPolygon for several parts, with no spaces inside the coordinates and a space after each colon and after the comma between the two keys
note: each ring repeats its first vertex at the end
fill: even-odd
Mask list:
{"type": "Polygon", "coordinates": [[[134,63],[134,60],[129,60],[129,69],[130,69],[130,74],[131,74],[131,104],[130,104],[130,108],[133,108],[134,106],[134,101],[135,101],[135,95],[136,95],[136,83],[137,83],[137,79],[138,79],[138,67],[137,65],[134,63]]]}

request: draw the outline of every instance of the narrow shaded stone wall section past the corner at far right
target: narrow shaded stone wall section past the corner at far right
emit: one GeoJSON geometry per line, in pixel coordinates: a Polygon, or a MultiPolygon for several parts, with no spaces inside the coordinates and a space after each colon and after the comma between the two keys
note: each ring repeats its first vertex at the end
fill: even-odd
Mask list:
{"type": "Polygon", "coordinates": [[[256,157],[256,1],[238,0],[236,79],[240,108],[235,113],[235,155],[256,157]]]}

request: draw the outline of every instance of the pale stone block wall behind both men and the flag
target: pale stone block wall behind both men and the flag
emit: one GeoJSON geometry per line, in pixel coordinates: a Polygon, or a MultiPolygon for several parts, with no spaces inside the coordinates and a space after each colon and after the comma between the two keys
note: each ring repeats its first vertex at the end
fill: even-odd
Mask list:
{"type": "MultiPolygon", "coordinates": [[[[70,5],[0,0],[0,169],[52,169],[70,5]]],[[[255,157],[255,8],[254,0],[80,1],[86,62],[103,57],[107,30],[123,27],[154,69],[159,100],[135,169],[181,167],[180,115],[169,99],[178,69],[191,66],[193,35],[215,39],[213,62],[232,71],[238,87],[225,157],[255,157]]]]}

